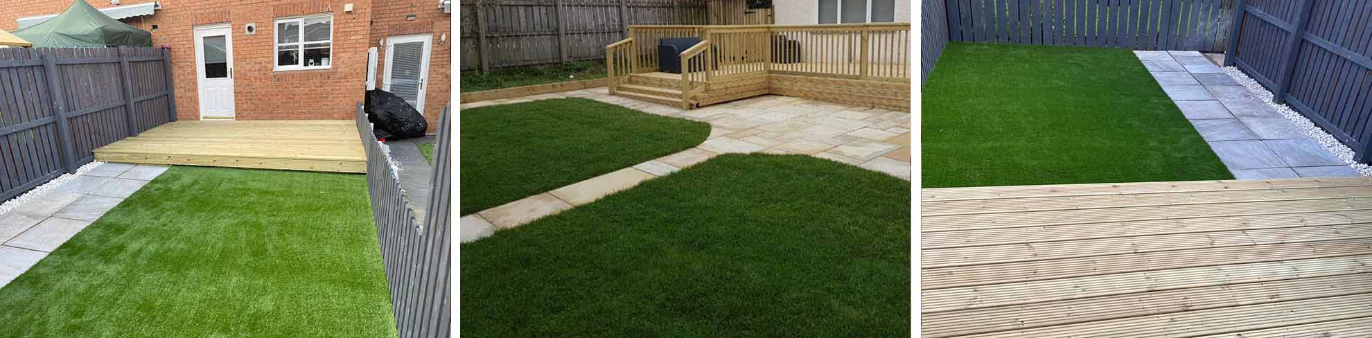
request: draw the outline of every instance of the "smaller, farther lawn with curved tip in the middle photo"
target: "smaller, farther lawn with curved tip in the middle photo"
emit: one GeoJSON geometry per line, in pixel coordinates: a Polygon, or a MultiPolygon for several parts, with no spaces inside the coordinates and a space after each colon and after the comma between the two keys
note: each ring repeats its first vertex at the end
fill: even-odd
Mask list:
{"type": "Polygon", "coordinates": [[[552,99],[461,114],[461,213],[542,194],[705,142],[709,124],[589,99],[552,99]]]}

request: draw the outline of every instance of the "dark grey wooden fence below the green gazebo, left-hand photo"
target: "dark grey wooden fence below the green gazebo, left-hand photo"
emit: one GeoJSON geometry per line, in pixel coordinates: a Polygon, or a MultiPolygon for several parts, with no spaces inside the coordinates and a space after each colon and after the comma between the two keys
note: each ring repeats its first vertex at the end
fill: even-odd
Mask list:
{"type": "Polygon", "coordinates": [[[176,121],[162,48],[0,48],[0,201],[176,121]]]}

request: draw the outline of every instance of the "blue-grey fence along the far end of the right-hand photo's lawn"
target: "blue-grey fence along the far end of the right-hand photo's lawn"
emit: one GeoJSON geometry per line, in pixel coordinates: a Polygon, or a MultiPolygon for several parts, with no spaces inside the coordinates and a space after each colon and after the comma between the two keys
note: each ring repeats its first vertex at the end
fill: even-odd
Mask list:
{"type": "Polygon", "coordinates": [[[1221,52],[1235,1],[945,0],[945,7],[952,41],[1221,52]]]}

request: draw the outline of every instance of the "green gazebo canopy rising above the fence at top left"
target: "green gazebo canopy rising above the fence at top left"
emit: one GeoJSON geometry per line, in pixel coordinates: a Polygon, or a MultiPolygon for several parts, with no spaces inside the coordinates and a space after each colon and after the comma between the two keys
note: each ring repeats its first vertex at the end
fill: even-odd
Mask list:
{"type": "Polygon", "coordinates": [[[33,47],[152,47],[152,33],[110,18],[85,0],[75,0],[58,16],[14,34],[33,47]]]}

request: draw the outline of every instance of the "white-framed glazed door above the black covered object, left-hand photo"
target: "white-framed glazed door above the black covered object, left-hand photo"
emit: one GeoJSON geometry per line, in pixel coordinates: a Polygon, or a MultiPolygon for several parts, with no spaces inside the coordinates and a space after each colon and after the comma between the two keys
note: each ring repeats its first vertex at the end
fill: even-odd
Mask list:
{"type": "Polygon", "coordinates": [[[424,89],[428,82],[429,49],[434,34],[407,34],[386,38],[386,81],[381,89],[395,93],[424,114],[424,89]]]}

